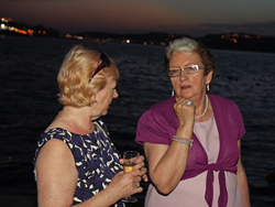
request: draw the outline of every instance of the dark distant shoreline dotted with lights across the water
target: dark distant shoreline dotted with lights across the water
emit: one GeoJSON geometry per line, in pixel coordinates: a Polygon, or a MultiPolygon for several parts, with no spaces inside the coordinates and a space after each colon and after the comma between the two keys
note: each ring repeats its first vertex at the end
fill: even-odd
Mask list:
{"type": "Polygon", "coordinates": [[[191,37],[206,44],[209,48],[275,53],[275,36],[262,36],[245,32],[208,34],[201,37],[193,37],[188,34],[169,34],[165,32],[148,32],[140,34],[81,32],[77,34],[64,34],[53,28],[46,28],[42,24],[34,26],[28,25],[13,22],[12,19],[9,18],[1,18],[0,23],[0,35],[63,37],[143,45],[168,45],[175,39],[191,37]]]}

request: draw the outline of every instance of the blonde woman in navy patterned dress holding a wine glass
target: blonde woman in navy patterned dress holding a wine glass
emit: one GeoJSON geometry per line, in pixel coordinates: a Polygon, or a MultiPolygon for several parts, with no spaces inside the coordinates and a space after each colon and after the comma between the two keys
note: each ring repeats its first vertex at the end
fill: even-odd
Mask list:
{"type": "Polygon", "coordinates": [[[34,159],[40,207],[122,207],[121,198],[142,192],[144,157],[124,174],[100,120],[119,96],[118,78],[116,63],[105,53],[82,46],[68,52],[57,78],[64,108],[42,133],[34,159]]]}

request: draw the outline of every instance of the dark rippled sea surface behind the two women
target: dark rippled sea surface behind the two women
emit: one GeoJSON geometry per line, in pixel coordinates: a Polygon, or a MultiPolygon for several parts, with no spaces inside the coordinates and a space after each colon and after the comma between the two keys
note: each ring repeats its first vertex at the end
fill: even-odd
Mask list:
{"type": "MultiPolygon", "coordinates": [[[[170,96],[164,73],[165,46],[102,43],[67,39],[0,36],[0,206],[36,207],[33,156],[40,134],[62,106],[56,76],[65,54],[76,44],[102,50],[118,64],[119,98],[102,117],[122,153],[143,149],[134,142],[136,123],[152,105],[170,96]]],[[[217,70],[212,94],[239,106],[252,207],[275,206],[275,54],[211,50],[217,70]]],[[[143,206],[144,192],[138,194],[143,206]]]]}

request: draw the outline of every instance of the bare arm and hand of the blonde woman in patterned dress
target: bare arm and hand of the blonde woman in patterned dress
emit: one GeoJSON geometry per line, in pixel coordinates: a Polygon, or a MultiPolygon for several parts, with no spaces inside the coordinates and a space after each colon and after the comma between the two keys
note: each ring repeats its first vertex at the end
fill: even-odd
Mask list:
{"type": "MultiPolygon", "coordinates": [[[[140,166],[144,165],[143,160],[140,166]]],[[[40,207],[68,207],[73,205],[78,172],[74,156],[64,142],[56,139],[48,141],[38,154],[35,170],[40,207]]],[[[141,176],[145,172],[145,170],[141,171],[138,167],[131,173],[120,172],[106,189],[75,206],[107,207],[122,197],[140,193],[142,187],[136,187],[136,183],[141,181],[141,176]]]]}

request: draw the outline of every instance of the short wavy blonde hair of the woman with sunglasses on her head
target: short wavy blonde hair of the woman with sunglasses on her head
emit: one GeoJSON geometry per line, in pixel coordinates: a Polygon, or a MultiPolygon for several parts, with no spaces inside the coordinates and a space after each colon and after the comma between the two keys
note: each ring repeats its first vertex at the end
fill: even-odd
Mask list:
{"type": "Polygon", "coordinates": [[[105,88],[108,78],[119,78],[117,65],[111,59],[110,67],[101,69],[91,80],[90,76],[99,63],[100,52],[74,46],[65,56],[57,83],[59,102],[65,106],[85,107],[95,102],[92,96],[105,88]]]}

